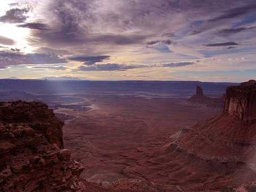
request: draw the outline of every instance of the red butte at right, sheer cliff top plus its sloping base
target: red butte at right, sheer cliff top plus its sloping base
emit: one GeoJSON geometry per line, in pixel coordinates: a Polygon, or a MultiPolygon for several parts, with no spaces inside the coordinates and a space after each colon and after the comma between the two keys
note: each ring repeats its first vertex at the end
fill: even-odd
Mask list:
{"type": "Polygon", "coordinates": [[[255,181],[255,89],[253,81],[227,88],[222,114],[173,138],[160,154],[182,167],[168,174],[175,179],[170,184],[200,191],[255,181]]]}

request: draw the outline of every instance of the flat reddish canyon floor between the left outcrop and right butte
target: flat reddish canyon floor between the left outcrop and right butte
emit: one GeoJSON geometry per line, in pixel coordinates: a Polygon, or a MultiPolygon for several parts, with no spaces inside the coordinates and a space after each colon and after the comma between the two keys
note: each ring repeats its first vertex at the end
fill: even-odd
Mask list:
{"type": "Polygon", "coordinates": [[[217,112],[187,105],[184,99],[90,96],[89,111],[59,108],[75,116],[64,125],[64,146],[81,162],[83,177],[103,186],[124,182],[172,184],[168,167],[151,162],[170,137],[217,112]],[[136,167],[136,170],[135,170],[136,167]]]}

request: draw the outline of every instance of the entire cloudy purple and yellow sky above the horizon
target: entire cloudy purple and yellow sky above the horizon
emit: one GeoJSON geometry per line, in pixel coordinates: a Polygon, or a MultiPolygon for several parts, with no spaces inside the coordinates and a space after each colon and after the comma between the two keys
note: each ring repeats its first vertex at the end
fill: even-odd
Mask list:
{"type": "Polygon", "coordinates": [[[256,78],[255,0],[1,0],[0,78],[256,78]]]}

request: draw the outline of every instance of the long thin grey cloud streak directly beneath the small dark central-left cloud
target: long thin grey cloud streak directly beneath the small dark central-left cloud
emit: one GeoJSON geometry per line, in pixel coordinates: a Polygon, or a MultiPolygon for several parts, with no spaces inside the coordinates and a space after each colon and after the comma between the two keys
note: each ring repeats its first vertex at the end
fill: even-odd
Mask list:
{"type": "Polygon", "coordinates": [[[106,63],[96,64],[94,66],[79,66],[74,71],[126,71],[136,68],[152,68],[152,67],[183,67],[194,64],[194,62],[164,63],[164,64],[118,64],[106,63]]]}

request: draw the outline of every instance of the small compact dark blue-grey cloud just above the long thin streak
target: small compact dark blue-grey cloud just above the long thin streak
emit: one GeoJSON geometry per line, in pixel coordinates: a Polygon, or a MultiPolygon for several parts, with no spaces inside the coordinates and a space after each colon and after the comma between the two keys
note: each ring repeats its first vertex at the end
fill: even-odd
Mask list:
{"type": "Polygon", "coordinates": [[[90,66],[103,60],[109,59],[109,55],[98,55],[98,56],[71,56],[69,60],[75,60],[77,62],[85,62],[84,64],[90,66]]]}

